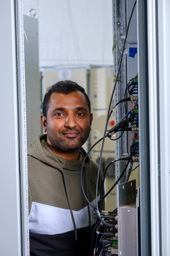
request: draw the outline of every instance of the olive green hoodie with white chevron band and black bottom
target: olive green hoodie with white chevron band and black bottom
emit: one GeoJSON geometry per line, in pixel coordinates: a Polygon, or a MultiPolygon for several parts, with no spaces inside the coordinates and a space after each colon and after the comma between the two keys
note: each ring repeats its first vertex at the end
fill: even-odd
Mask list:
{"type": "MultiPolygon", "coordinates": [[[[80,184],[86,151],[81,148],[79,159],[69,161],[53,154],[46,140],[42,134],[28,149],[30,255],[75,256],[81,247],[81,255],[90,255],[96,213],[86,202],[80,184]]],[[[82,183],[94,206],[97,174],[97,164],[87,157],[82,183]]],[[[101,183],[100,174],[98,198],[101,183]]]]}

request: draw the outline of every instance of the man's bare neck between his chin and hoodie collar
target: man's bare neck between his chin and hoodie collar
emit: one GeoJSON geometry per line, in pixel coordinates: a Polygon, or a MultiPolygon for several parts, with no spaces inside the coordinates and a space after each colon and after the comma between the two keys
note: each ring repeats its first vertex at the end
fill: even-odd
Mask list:
{"type": "Polygon", "coordinates": [[[50,149],[52,150],[52,152],[56,156],[60,156],[63,159],[66,159],[66,160],[69,160],[69,161],[77,161],[77,159],[79,158],[79,151],[80,151],[80,149],[76,149],[74,151],[64,151],[62,149],[57,149],[57,148],[55,148],[55,146],[52,146],[52,145],[50,145],[48,143],[47,143],[47,146],[50,147],[50,149]]]}

